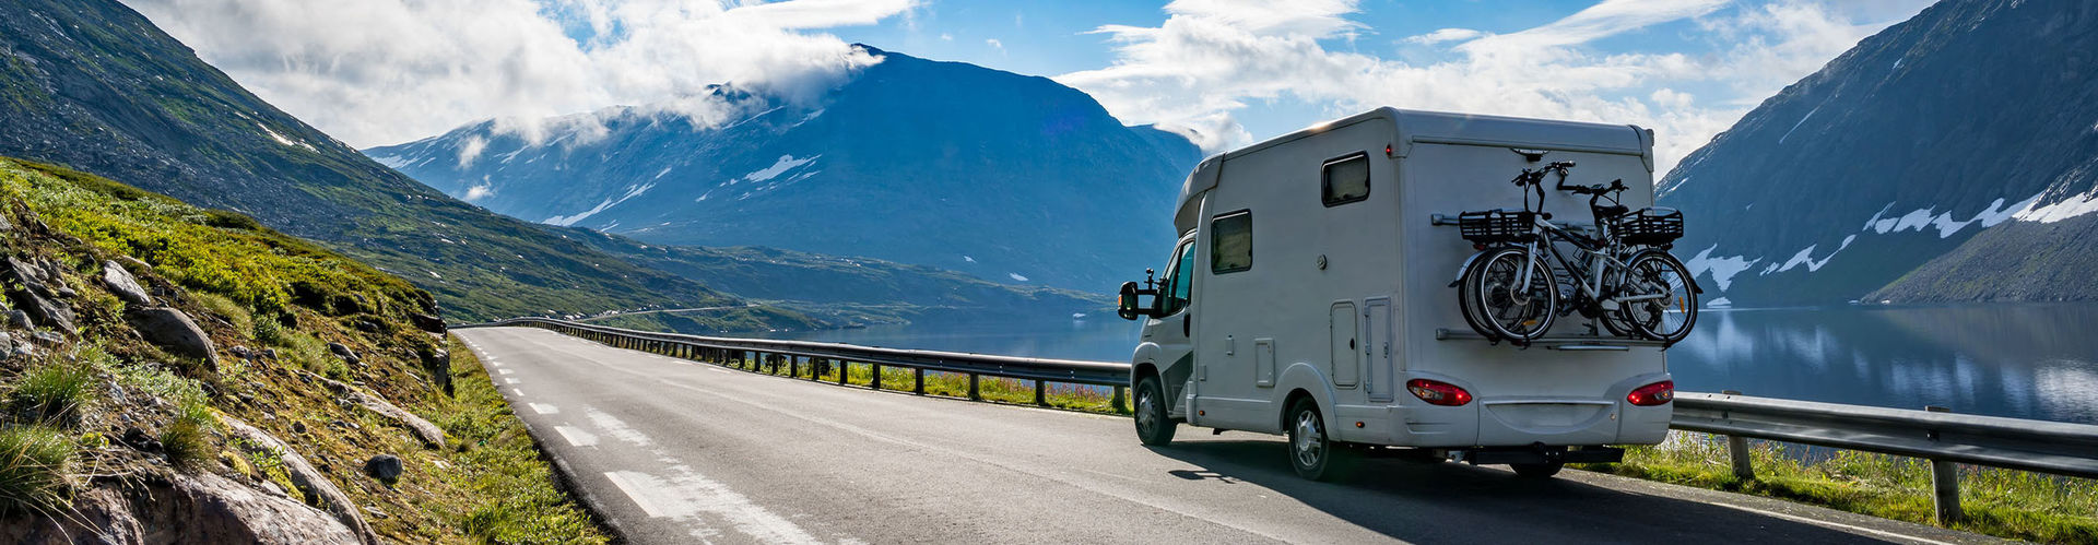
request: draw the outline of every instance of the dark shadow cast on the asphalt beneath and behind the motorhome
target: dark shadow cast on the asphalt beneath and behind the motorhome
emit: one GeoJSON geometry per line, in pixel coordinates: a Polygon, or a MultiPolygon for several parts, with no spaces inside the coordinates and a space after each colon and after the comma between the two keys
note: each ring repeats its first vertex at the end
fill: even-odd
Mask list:
{"type": "Polygon", "coordinates": [[[1290,472],[1278,440],[1183,440],[1152,451],[1200,467],[1171,476],[1259,484],[1414,543],[1882,543],[1689,499],[1448,461],[1362,459],[1339,482],[1311,482],[1290,472]]]}

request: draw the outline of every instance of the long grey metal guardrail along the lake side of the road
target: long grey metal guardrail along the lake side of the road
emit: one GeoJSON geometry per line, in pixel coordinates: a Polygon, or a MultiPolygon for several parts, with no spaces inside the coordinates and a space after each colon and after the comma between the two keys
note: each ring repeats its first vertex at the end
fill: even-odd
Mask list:
{"type": "MultiPolygon", "coordinates": [[[[485,325],[529,325],[596,340],[621,348],[669,356],[751,367],[787,361],[789,375],[799,377],[804,358],[812,365],[873,365],[873,388],[881,388],[881,367],[915,369],[915,392],[925,394],[925,371],[969,375],[969,398],[978,394],[978,375],[1034,382],[1034,402],[1047,405],[1043,382],[1114,386],[1114,409],[1122,411],[1129,386],[1127,363],[1020,358],[967,352],[873,348],[831,342],[701,337],[602,327],[556,319],[510,319],[485,325]]],[[[845,382],[843,369],[837,382],[845,382]]],[[[1918,457],[1932,463],[1932,497],[1941,522],[1962,518],[1960,476],[1955,463],[2041,472],[2075,478],[2098,478],[2098,426],[2035,421],[2010,417],[1953,415],[1928,411],[1808,402],[1787,398],[1756,398],[1737,392],[1676,392],[1672,430],[1727,436],[1733,472],[1752,480],[1748,440],[1777,440],[1813,446],[1918,457]]]]}

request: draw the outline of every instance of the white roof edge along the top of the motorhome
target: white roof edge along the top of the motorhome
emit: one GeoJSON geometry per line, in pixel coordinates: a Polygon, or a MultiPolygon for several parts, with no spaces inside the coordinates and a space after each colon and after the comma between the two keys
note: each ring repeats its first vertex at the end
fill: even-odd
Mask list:
{"type": "Polygon", "coordinates": [[[1263,149],[1307,138],[1326,132],[1330,128],[1343,128],[1362,122],[1383,122],[1393,126],[1393,134],[1397,134],[1397,138],[1395,143],[1389,143],[1391,157],[1406,157],[1412,151],[1414,143],[1487,145],[1487,147],[1639,155],[1647,164],[1647,170],[1649,172],[1653,170],[1653,132],[1639,126],[1380,107],[1349,117],[1315,124],[1290,134],[1282,134],[1257,145],[1217,153],[1211,155],[1208,159],[1202,159],[1202,164],[1196,166],[1194,172],[1187,174],[1187,180],[1181,184],[1181,195],[1175,201],[1175,210],[1179,212],[1175,214],[1175,226],[1190,224],[1181,222],[1181,218],[1177,216],[1192,214],[1190,210],[1185,210],[1190,195],[1217,187],[1217,176],[1225,159],[1259,153],[1263,149]]]}

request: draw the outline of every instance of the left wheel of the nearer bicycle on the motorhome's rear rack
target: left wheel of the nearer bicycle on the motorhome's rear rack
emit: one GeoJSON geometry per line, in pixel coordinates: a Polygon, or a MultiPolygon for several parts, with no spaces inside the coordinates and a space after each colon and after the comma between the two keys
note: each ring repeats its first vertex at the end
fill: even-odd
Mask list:
{"type": "Polygon", "coordinates": [[[1559,317],[1559,281],[1550,266],[1532,262],[1525,249],[1494,252],[1471,281],[1485,327],[1504,340],[1527,344],[1550,331],[1559,317]],[[1529,264],[1529,283],[1521,281],[1523,264],[1529,264]]]}

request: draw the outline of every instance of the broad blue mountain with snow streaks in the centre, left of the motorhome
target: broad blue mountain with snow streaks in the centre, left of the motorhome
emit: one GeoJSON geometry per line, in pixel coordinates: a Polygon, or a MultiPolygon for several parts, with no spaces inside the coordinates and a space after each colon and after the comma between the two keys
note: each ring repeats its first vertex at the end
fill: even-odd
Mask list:
{"type": "Polygon", "coordinates": [[[1156,218],[1200,159],[1185,138],[1122,126],[1047,78],[858,48],[881,61],[812,101],[715,86],[365,153],[501,214],[648,243],[869,256],[1093,293],[1171,245],[1156,218]]]}

